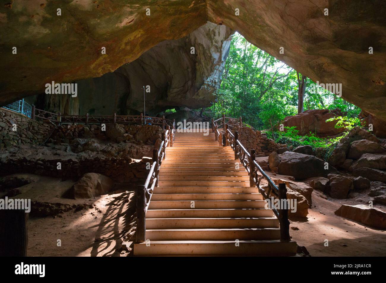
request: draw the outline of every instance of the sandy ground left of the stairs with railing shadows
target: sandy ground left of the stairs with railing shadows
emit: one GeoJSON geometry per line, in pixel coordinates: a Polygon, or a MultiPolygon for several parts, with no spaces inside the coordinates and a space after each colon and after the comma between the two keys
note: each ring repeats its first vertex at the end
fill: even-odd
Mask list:
{"type": "Polygon", "coordinates": [[[28,256],[125,256],[134,234],[134,192],[110,194],[89,207],[58,216],[29,219],[28,256]],[[61,246],[58,246],[58,240],[61,246]],[[129,240],[129,239],[128,239],[129,240]]]}

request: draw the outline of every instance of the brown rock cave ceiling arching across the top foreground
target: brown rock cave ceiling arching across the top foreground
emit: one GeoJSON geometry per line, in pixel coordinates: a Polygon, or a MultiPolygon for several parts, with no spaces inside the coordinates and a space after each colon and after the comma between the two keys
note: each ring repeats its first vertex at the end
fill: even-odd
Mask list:
{"type": "MultiPolygon", "coordinates": [[[[163,40],[185,37],[209,20],[237,30],[315,82],[341,83],[345,100],[386,117],[383,0],[357,1],[355,5],[324,0],[61,1],[60,21],[57,2],[6,4],[0,7],[4,31],[0,53],[6,54],[0,64],[0,105],[42,93],[44,84],[52,80],[100,77],[133,62],[163,40]],[[328,16],[323,12],[326,7],[328,16]],[[369,54],[369,46],[374,54],[369,54]],[[19,47],[17,55],[12,54],[12,47],[19,47]],[[106,54],[101,54],[102,47],[106,54]]],[[[196,48],[192,57],[207,55],[196,48]]],[[[151,64],[159,69],[154,61],[151,64]]],[[[191,82],[190,77],[184,79],[181,89],[191,82]]],[[[141,87],[135,89],[135,95],[141,93],[141,87]]],[[[185,91],[177,94],[179,100],[185,95],[185,91]]],[[[113,95],[108,98],[116,100],[113,95]]],[[[163,102],[171,100],[173,97],[165,97],[163,102]]]]}

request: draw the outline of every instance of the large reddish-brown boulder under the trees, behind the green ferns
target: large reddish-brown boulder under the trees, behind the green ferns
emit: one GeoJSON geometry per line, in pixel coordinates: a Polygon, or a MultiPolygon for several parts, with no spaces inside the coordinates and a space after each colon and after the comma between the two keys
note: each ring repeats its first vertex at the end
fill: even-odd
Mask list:
{"type": "Polygon", "coordinates": [[[336,136],[344,132],[345,129],[335,128],[336,121],[326,122],[326,120],[337,116],[343,116],[339,109],[334,111],[328,109],[307,110],[295,116],[285,117],[282,123],[284,127],[295,126],[301,136],[310,134],[310,132],[319,137],[336,136]]]}

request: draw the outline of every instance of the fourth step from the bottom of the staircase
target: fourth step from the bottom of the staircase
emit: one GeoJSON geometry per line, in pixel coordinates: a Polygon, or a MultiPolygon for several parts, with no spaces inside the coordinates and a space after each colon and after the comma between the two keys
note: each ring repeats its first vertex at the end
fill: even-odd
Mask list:
{"type": "Polygon", "coordinates": [[[149,209],[146,218],[259,218],[273,217],[271,209],[149,209]]]}

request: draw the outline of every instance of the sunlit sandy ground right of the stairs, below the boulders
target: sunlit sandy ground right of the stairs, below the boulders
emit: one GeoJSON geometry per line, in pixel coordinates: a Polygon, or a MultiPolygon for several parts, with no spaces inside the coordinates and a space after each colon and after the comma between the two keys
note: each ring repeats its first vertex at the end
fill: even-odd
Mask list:
{"type": "Polygon", "coordinates": [[[360,203],[350,199],[329,201],[319,191],[313,191],[312,203],[308,220],[291,221],[289,230],[292,239],[312,256],[386,256],[385,231],[334,214],[342,204],[360,203]],[[295,227],[298,230],[293,230],[295,227]]]}

